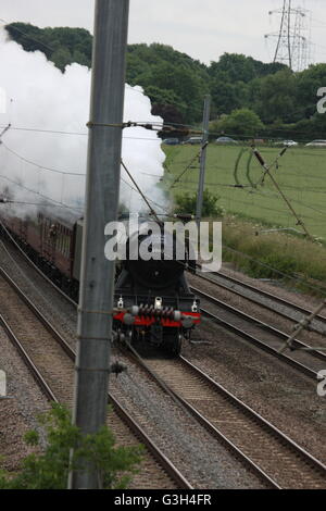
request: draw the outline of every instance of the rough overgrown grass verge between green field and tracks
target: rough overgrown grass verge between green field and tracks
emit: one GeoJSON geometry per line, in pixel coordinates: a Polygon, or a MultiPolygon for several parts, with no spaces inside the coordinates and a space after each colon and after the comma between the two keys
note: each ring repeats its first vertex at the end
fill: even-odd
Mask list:
{"type": "Polygon", "coordinates": [[[223,260],[254,278],[278,279],[326,297],[326,248],[234,215],[223,219],[223,260]]]}

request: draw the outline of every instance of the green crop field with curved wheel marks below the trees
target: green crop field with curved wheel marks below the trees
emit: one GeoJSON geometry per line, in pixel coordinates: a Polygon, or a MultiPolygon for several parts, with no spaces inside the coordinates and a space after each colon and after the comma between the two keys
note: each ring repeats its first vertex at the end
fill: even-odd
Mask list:
{"type": "MultiPolygon", "coordinates": [[[[171,186],[198,154],[199,146],[163,147],[166,153],[164,188],[174,196],[197,191],[198,159],[179,182],[171,186]]],[[[259,150],[268,164],[280,151],[273,147],[260,147],[259,150]]],[[[218,204],[227,213],[271,227],[302,230],[269,177],[265,177],[264,185],[258,185],[262,169],[255,158],[250,161],[250,153],[248,147],[211,144],[206,157],[206,188],[220,197],[218,204]],[[243,153],[237,165],[241,150],[243,153]],[[242,185],[243,188],[234,185],[242,185]]],[[[326,239],[326,148],[290,148],[272,173],[309,233],[326,239]]]]}

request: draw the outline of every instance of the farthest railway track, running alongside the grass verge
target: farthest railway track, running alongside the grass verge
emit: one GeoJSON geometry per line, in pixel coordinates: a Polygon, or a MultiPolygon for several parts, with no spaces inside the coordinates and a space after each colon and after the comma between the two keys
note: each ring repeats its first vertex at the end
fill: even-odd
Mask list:
{"type": "MultiPolygon", "coordinates": [[[[200,265],[199,270],[201,270],[200,265]]],[[[259,289],[252,284],[244,283],[222,272],[210,274],[210,276],[206,273],[198,273],[197,276],[296,323],[299,323],[313,312],[297,303],[289,302],[275,294],[259,289]]],[[[309,329],[317,334],[326,334],[326,316],[318,314],[312,321],[309,329]]]]}

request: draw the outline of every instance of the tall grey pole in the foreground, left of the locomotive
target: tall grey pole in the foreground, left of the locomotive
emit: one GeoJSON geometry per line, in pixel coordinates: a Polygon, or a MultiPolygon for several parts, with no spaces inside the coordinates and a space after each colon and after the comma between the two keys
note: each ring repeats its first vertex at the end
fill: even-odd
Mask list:
{"type": "MultiPolygon", "coordinates": [[[[73,416],[84,434],[106,419],[114,262],[104,257],[104,227],[118,208],[128,14],[129,0],[96,1],[73,416]]],[[[98,488],[97,474],[74,472],[68,487],[98,488]]]]}

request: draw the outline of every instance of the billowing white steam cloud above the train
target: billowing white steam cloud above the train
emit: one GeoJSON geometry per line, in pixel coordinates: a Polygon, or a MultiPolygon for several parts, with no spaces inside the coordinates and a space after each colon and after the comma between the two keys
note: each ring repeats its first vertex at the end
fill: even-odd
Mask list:
{"type": "MultiPolygon", "coordinates": [[[[0,195],[22,202],[1,208],[30,215],[37,210],[33,203],[48,198],[61,215],[70,211],[62,204],[83,214],[90,71],[72,64],[63,74],[41,52],[25,52],[1,30],[0,90],[5,97],[0,133],[8,124],[12,126],[0,140],[0,195]]],[[[150,100],[140,87],[126,85],[124,121],[159,123],[162,119],[151,114],[150,100]]],[[[149,199],[164,203],[156,184],[165,157],[156,132],[134,127],[123,135],[126,166],[149,199]]],[[[125,171],[122,178],[121,201],[130,211],[147,210],[125,171]]]]}

